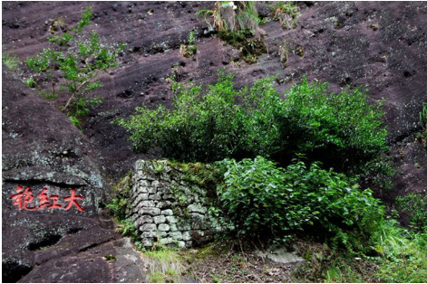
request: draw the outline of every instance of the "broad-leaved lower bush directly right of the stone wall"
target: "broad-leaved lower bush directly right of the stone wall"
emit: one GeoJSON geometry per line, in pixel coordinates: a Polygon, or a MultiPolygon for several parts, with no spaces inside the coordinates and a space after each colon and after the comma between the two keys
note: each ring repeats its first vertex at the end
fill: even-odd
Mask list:
{"type": "Polygon", "coordinates": [[[371,190],[318,163],[307,168],[299,161],[284,169],[261,156],[222,163],[227,172],[218,185],[218,200],[240,235],[282,238],[308,224],[331,232],[374,222],[383,214],[371,190]]]}

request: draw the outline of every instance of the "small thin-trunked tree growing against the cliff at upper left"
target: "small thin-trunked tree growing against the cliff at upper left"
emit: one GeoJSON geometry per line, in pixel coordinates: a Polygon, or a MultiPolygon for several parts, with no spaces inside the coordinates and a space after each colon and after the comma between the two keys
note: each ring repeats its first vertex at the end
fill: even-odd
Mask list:
{"type": "Polygon", "coordinates": [[[56,24],[58,33],[48,38],[54,45],[26,62],[39,78],[51,81],[52,92],[44,93],[46,98],[57,99],[60,94],[66,95],[67,101],[61,110],[67,113],[76,126],[80,126],[80,118],[89,113],[90,106],[101,102],[97,98],[89,99],[89,96],[93,90],[101,87],[99,73],[116,67],[118,55],[124,48],[123,43],[102,43],[100,35],[93,30],[84,33],[84,27],[92,24],[92,16],[91,8],[87,7],[80,22],[69,32],[64,24],[56,24]],[[59,88],[55,80],[58,77],[63,78],[59,88]]]}

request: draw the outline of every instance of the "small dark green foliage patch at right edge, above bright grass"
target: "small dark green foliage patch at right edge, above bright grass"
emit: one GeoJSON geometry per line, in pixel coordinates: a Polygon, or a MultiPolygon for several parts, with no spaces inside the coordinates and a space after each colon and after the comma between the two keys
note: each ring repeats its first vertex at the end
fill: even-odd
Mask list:
{"type": "Polygon", "coordinates": [[[397,208],[406,215],[414,232],[427,232],[426,194],[406,194],[396,198],[397,208]]]}

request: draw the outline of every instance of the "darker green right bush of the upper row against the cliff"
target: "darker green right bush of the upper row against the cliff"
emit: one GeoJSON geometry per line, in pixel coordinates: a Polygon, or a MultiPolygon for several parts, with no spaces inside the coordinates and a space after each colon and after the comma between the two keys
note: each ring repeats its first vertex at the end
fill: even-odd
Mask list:
{"type": "Polygon", "coordinates": [[[286,94],[280,124],[286,152],[306,153],[338,171],[363,167],[389,148],[382,103],[368,103],[359,89],[330,94],[327,87],[303,79],[286,94]]]}

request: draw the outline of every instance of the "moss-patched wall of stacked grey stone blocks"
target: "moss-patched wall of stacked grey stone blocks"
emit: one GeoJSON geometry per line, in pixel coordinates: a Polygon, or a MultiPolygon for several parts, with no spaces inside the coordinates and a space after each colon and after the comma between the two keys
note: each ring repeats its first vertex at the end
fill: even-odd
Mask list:
{"type": "Polygon", "coordinates": [[[132,176],[128,218],[144,246],[155,241],[180,248],[211,241],[219,229],[209,217],[209,190],[189,181],[180,166],[167,161],[139,160],[132,176]]]}

